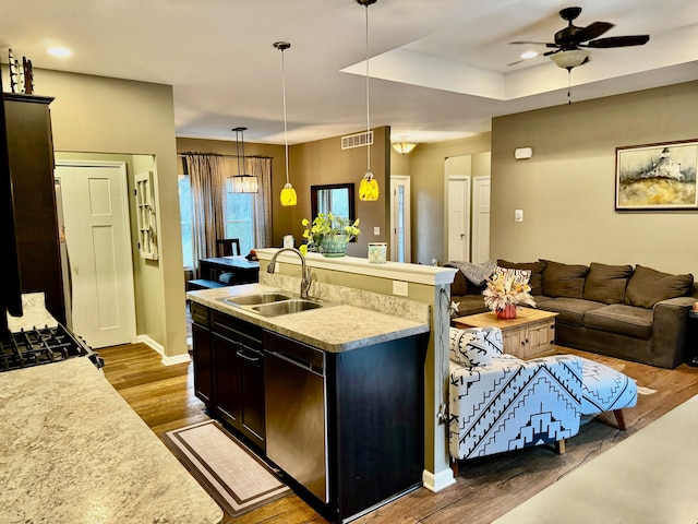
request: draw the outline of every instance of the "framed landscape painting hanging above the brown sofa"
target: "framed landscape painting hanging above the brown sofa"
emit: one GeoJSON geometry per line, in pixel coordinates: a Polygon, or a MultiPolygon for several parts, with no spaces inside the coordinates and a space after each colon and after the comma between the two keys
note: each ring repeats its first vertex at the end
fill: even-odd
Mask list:
{"type": "Polygon", "coordinates": [[[615,210],[698,210],[698,140],[615,150],[615,210]]]}

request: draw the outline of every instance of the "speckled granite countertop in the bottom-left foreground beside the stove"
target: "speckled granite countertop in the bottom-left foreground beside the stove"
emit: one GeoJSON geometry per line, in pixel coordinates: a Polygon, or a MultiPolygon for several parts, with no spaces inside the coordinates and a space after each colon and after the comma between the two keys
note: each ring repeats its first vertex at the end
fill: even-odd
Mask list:
{"type": "Polygon", "coordinates": [[[0,420],[2,522],[222,520],[87,358],[0,373],[0,420]]]}

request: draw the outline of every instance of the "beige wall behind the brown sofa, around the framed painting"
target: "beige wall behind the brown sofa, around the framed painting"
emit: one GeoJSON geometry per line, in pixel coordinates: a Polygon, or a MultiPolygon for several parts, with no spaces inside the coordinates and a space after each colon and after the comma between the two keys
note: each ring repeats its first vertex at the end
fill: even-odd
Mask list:
{"type": "Polygon", "coordinates": [[[614,210],[615,148],[698,139],[697,108],[698,82],[690,82],[495,118],[492,258],[698,275],[697,212],[614,210]],[[515,160],[522,146],[533,157],[515,160]]]}

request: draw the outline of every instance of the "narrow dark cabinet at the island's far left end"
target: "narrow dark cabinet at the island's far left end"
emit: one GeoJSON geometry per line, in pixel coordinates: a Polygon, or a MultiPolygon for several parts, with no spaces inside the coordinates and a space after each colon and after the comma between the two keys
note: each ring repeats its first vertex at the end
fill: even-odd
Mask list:
{"type": "Polygon", "coordinates": [[[210,312],[205,306],[190,302],[192,315],[192,360],[194,394],[210,409],[213,402],[213,357],[210,348],[210,312]]]}

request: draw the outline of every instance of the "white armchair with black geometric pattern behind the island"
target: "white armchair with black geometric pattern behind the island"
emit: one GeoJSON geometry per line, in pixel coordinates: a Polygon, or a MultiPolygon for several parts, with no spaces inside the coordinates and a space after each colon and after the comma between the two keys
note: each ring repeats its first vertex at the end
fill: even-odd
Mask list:
{"type": "Polygon", "coordinates": [[[502,347],[497,327],[450,329],[449,452],[456,461],[544,443],[564,452],[564,439],[579,431],[580,360],[525,361],[502,347]]]}

